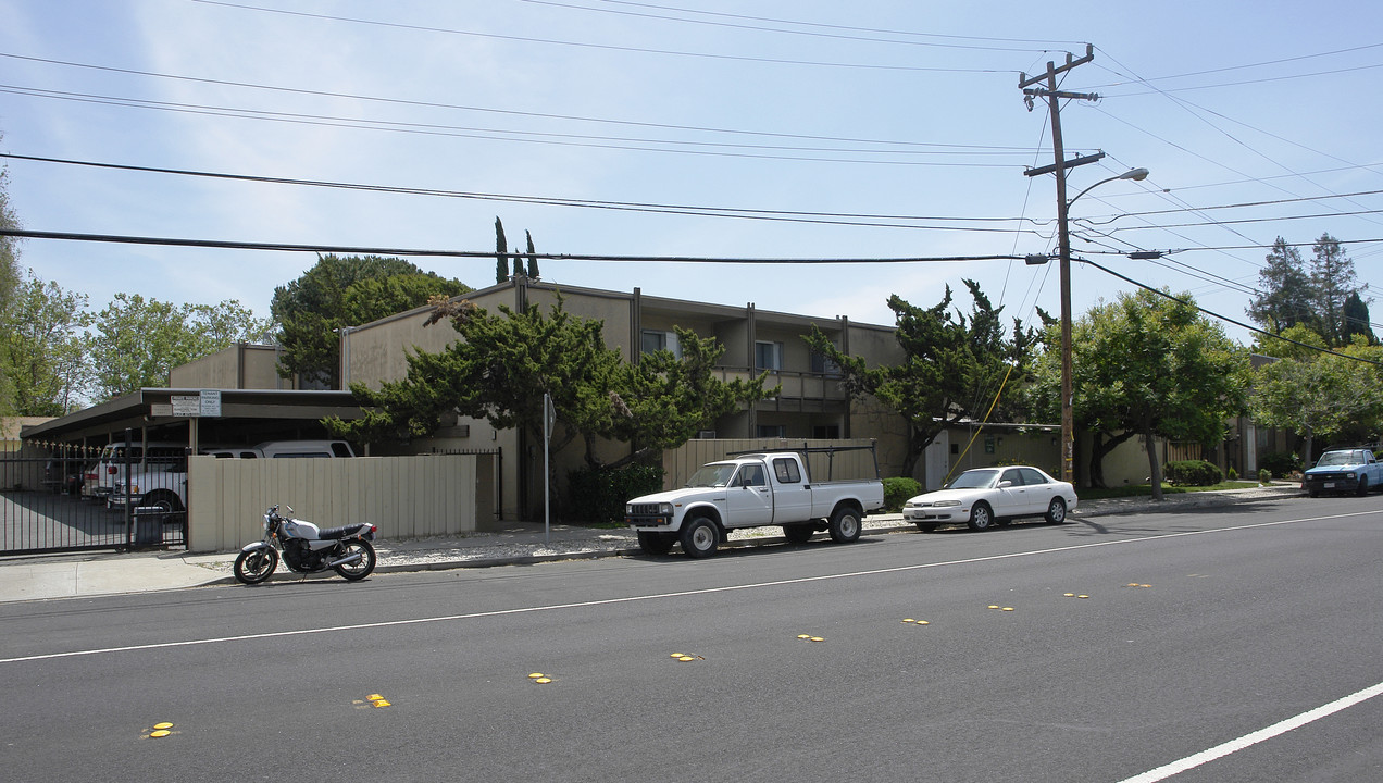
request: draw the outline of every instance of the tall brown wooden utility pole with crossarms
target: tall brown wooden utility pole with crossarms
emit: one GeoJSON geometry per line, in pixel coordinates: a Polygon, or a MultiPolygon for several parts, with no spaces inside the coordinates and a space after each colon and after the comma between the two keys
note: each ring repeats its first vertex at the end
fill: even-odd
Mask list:
{"type": "MultiPolygon", "coordinates": [[[[1057,90],[1057,76],[1070,71],[1077,65],[1084,65],[1095,58],[1095,47],[1086,44],[1086,55],[1082,58],[1073,58],[1070,53],[1066,54],[1066,64],[1057,66],[1054,62],[1047,61],[1047,72],[1040,76],[1028,77],[1026,73],[1018,75],[1018,87],[1023,91],[1023,102],[1028,104],[1028,111],[1033,109],[1033,98],[1044,97],[1047,98],[1047,105],[1051,112],[1051,148],[1055,158],[1052,165],[1052,172],[1057,174],[1057,242],[1058,252],[1061,253],[1061,480],[1076,483],[1075,472],[1075,448],[1076,448],[1076,419],[1072,412],[1072,368],[1070,368],[1070,232],[1066,227],[1066,208],[1070,203],[1066,201],[1066,169],[1073,166],[1080,166],[1083,163],[1094,163],[1104,156],[1087,156],[1077,158],[1076,160],[1066,160],[1066,151],[1061,141],[1061,104],[1062,98],[1094,101],[1099,95],[1083,94],[1083,93],[1062,93],[1057,90]],[[1040,82],[1046,80],[1046,87],[1033,87],[1040,82]]],[[[1030,169],[1025,172],[1028,176],[1036,173],[1046,173],[1046,166],[1043,169],[1030,169]]]]}

